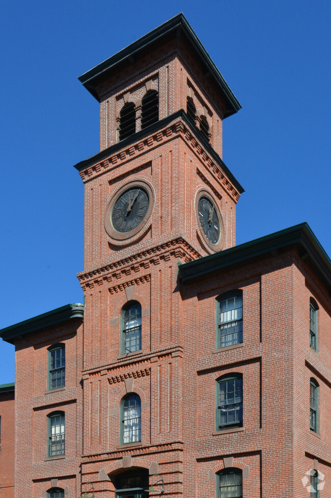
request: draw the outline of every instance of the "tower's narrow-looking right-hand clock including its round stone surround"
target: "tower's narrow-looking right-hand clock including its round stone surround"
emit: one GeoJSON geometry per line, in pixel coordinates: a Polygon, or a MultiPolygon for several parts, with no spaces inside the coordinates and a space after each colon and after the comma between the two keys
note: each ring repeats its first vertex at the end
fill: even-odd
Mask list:
{"type": "Polygon", "coordinates": [[[216,201],[205,189],[197,192],[196,216],[204,242],[213,251],[220,251],[224,245],[223,219],[216,201]]]}

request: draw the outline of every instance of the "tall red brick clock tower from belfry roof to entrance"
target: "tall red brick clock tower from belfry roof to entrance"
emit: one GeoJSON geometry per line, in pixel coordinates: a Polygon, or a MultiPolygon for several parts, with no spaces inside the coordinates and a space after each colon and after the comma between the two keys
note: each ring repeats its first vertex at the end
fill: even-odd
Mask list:
{"type": "Polygon", "coordinates": [[[85,185],[82,483],[144,494],[158,474],[177,495],[178,265],[235,245],[243,189],[222,161],[222,124],[240,104],[182,14],[79,80],[100,103],[100,152],[75,166],[85,185]]]}

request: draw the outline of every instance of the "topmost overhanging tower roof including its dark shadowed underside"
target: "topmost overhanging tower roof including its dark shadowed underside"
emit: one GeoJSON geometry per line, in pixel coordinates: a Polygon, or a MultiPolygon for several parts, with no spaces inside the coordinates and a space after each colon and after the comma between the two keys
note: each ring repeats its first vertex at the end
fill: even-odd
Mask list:
{"type": "Polygon", "coordinates": [[[237,98],[182,13],[176,15],[172,19],[169,19],[169,21],[164,22],[155,30],[150,31],[142,38],[139,38],[139,40],[136,40],[127,47],[123,48],[117,54],[109,57],[109,59],[106,59],[101,62],[101,64],[98,64],[86,73],[82,74],[79,76],[78,80],[97,99],[97,101],[99,101],[96,87],[100,81],[109,77],[111,74],[114,74],[118,69],[119,64],[132,61],[132,58],[136,58],[141,51],[146,48],[151,49],[152,45],[155,45],[156,43],[159,44],[162,38],[169,35],[173,35],[174,37],[183,35],[186,37],[192,50],[195,52],[196,57],[198,57],[205,66],[205,72],[208,73],[208,77],[214,80],[220,93],[225,99],[227,105],[225,117],[231,116],[231,114],[239,111],[241,106],[237,98]]]}

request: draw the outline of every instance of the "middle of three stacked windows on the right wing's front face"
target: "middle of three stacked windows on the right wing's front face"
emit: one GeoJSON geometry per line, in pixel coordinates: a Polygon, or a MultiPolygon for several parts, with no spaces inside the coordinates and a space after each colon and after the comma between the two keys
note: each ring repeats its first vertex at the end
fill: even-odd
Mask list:
{"type": "Polygon", "coordinates": [[[242,375],[229,374],[217,379],[216,431],[242,427],[242,375]]]}

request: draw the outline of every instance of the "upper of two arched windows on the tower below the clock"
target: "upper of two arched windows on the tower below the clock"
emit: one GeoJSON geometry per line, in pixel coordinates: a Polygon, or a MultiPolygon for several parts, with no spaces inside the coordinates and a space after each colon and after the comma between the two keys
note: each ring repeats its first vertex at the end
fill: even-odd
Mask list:
{"type": "Polygon", "coordinates": [[[121,353],[132,353],[142,348],[142,307],[130,301],[122,310],[121,353]]]}

